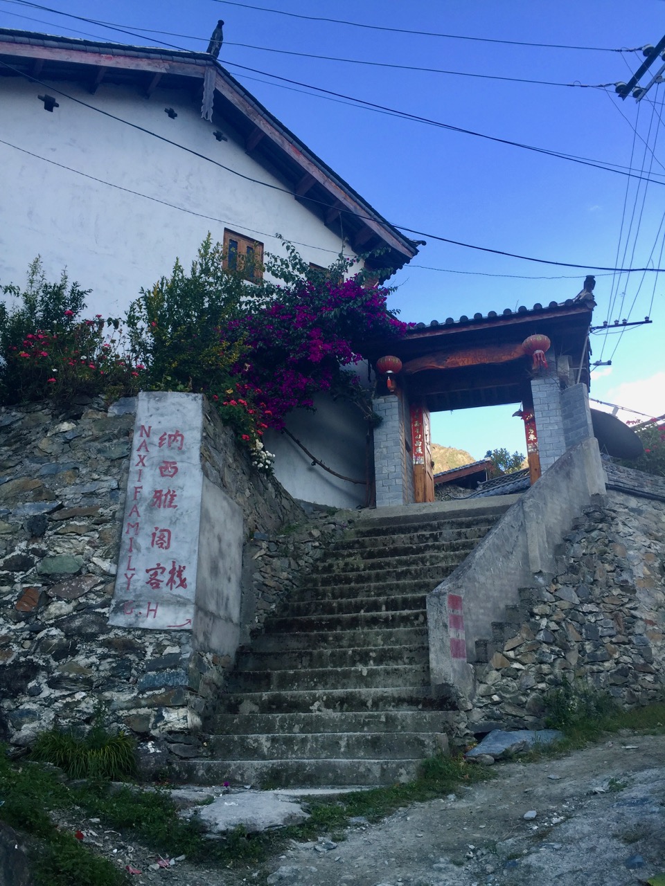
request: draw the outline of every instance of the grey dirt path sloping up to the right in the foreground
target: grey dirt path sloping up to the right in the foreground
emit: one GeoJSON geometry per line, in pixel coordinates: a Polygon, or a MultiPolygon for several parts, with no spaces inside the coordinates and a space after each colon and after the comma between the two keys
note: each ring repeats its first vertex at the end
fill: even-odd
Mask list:
{"type": "Polygon", "coordinates": [[[565,758],[495,766],[460,796],[416,804],[346,840],[293,843],[259,869],[152,871],[138,884],[630,886],[665,871],[665,735],[623,735],[565,758]],[[536,818],[525,820],[527,812],[536,818]],[[632,859],[632,860],[631,860],[632,859]],[[641,859],[641,861],[640,861],[641,859]],[[628,867],[635,865],[637,867],[628,867]]]}

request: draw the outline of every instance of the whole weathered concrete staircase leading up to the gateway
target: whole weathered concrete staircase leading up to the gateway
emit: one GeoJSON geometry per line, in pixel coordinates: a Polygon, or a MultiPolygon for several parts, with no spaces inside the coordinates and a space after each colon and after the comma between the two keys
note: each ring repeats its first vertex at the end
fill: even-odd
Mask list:
{"type": "Polygon", "coordinates": [[[207,723],[211,758],[187,777],[303,787],[415,775],[454,716],[430,688],[426,594],[506,509],[456,504],[361,521],[317,561],[239,650],[207,723]]]}

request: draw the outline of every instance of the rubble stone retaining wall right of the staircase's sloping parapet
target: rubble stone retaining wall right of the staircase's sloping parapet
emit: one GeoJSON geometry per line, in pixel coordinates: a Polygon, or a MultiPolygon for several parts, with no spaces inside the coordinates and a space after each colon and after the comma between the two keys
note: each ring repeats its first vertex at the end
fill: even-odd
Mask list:
{"type": "Polygon", "coordinates": [[[564,679],[626,705],[663,697],[665,502],[610,491],[583,509],[559,563],[522,592],[503,649],[475,665],[472,729],[542,726],[543,696],[564,679]]]}

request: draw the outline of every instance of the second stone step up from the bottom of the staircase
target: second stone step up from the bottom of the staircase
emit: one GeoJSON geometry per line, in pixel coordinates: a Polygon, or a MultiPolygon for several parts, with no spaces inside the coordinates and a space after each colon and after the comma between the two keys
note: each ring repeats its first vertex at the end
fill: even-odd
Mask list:
{"type": "Polygon", "coordinates": [[[436,735],[426,732],[334,732],[211,735],[212,757],[233,760],[422,759],[436,751],[436,735]]]}

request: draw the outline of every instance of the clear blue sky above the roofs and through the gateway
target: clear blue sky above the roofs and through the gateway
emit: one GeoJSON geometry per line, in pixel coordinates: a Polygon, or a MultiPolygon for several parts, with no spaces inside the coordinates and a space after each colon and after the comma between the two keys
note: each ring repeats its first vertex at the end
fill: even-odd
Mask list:
{"type": "MultiPolygon", "coordinates": [[[[216,20],[224,19],[220,61],[231,74],[389,221],[424,232],[411,236],[426,239],[427,245],[409,268],[395,276],[397,288],[390,303],[400,309],[403,320],[428,323],[477,311],[531,307],[536,301],[560,301],[581,290],[584,276],[594,273],[594,266],[665,264],[661,255],[665,86],[654,87],[639,103],[632,98],[621,101],[613,88],[590,88],[630,78],[643,60],[640,53],[593,48],[633,49],[657,43],[665,34],[663,0],[632,0],[630,6],[624,0],[559,0],[556,4],[532,0],[502,0],[500,4],[489,0],[411,0],[409,4],[397,0],[338,0],[335,4],[254,0],[253,4],[264,10],[424,31],[424,35],[301,19],[216,0],[189,0],[187,4],[52,0],[43,5],[104,19],[145,39],[9,0],[0,0],[0,26],[123,43],[158,44],[161,40],[205,51],[216,20]],[[317,58],[285,54],[288,51],[317,58]],[[351,64],[322,56],[379,64],[351,64]],[[541,152],[372,112],[344,98],[325,99],[306,86],[291,84],[285,89],[289,84],[278,85],[270,75],[498,139],[613,164],[623,171],[630,168],[653,181],[638,183],[541,152]],[[514,82],[487,75],[583,86],[514,82]],[[427,235],[582,267],[483,253],[427,235]]],[[[665,413],[665,349],[661,344],[665,276],[595,273],[597,323],[624,317],[641,320],[649,314],[653,324],[592,337],[592,360],[611,357],[612,367],[594,370],[591,396],[660,416],[665,413]]],[[[524,451],[521,423],[511,418],[512,411],[512,407],[501,407],[434,416],[434,441],[465,448],[473,457],[494,447],[524,451]]]]}

